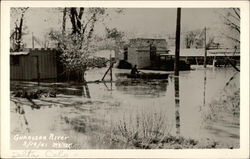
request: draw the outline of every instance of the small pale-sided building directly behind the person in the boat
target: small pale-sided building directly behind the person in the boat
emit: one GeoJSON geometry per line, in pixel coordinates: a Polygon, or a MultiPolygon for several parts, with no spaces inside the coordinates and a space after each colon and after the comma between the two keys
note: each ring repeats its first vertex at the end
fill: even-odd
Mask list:
{"type": "Polygon", "coordinates": [[[161,54],[168,53],[165,39],[130,39],[129,44],[124,48],[121,60],[137,65],[138,68],[145,68],[154,65],[161,54]]]}

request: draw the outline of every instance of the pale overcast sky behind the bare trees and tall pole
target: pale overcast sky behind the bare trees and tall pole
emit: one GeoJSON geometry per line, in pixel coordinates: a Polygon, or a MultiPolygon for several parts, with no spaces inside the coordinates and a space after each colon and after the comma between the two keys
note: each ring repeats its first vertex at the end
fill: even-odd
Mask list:
{"type": "MultiPolygon", "coordinates": [[[[121,14],[114,12],[114,9],[107,9],[109,16],[104,22],[98,23],[96,32],[104,34],[104,24],[116,27],[131,37],[166,38],[169,34],[175,33],[176,9],[124,9],[121,14]]],[[[11,19],[13,22],[18,16],[11,19]]],[[[28,47],[31,47],[31,33],[38,39],[42,39],[48,31],[53,28],[60,30],[62,26],[62,12],[51,8],[29,8],[25,14],[24,25],[27,26],[28,34],[24,37],[28,47]],[[29,42],[30,41],[30,42],[29,42]]],[[[69,26],[69,25],[68,25],[69,26]]],[[[218,30],[222,27],[219,16],[219,9],[192,9],[183,8],[181,14],[181,31],[202,30],[210,28],[210,34],[219,35],[218,30]]]]}

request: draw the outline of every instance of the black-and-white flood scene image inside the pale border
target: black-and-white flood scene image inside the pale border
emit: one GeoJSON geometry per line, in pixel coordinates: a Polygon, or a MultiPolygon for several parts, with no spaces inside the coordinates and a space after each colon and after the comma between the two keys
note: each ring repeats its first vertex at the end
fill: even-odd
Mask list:
{"type": "Polygon", "coordinates": [[[9,7],[9,149],[240,149],[242,15],[9,7]]]}

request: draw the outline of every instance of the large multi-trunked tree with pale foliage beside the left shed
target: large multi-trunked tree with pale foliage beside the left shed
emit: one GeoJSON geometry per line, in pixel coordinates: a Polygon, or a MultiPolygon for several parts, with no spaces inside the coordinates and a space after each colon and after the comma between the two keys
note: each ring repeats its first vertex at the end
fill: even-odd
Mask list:
{"type": "Polygon", "coordinates": [[[104,15],[104,8],[64,8],[62,32],[50,34],[58,42],[62,53],[61,61],[67,72],[76,73],[81,81],[85,81],[87,68],[95,66],[95,60],[91,57],[97,48],[93,32],[96,22],[104,15]],[[65,31],[67,18],[71,24],[71,32],[65,31]]]}

